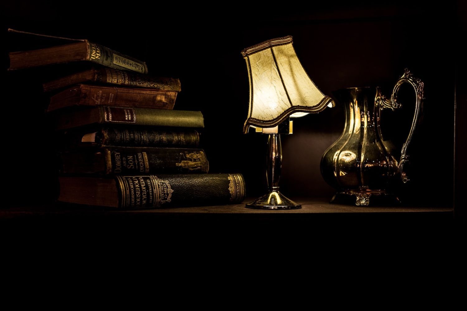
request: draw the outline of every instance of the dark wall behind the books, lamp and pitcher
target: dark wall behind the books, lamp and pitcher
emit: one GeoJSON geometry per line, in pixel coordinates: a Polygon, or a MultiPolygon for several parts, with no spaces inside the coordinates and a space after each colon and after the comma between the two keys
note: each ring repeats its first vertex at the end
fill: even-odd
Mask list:
{"type": "MultiPolygon", "coordinates": [[[[22,37],[7,33],[7,28],[14,28],[89,39],[146,61],[152,75],[179,78],[182,92],[175,108],[202,111],[201,145],[210,172],[243,173],[250,197],[266,190],[267,137],[242,134],[248,112],[243,48],[292,35],[304,69],[330,96],[334,90],[356,86],[381,86],[390,95],[404,68],[409,68],[425,82],[426,100],[423,123],[410,146],[411,183],[401,194],[407,204],[452,206],[455,71],[465,57],[457,47],[465,41],[466,6],[460,1],[419,4],[320,4],[313,10],[289,7],[284,12],[243,10],[239,5],[226,12],[199,6],[176,11],[140,4],[70,9],[9,3],[2,12],[3,165],[11,187],[6,201],[29,205],[51,202],[57,196],[56,142],[43,113],[47,95],[40,90],[44,76],[34,70],[7,71],[7,52],[28,46],[22,37]]],[[[383,115],[387,117],[384,131],[399,145],[413,111],[410,100],[406,102],[402,112],[383,115]]],[[[343,127],[339,103],[294,122],[294,134],[283,136],[284,194],[332,196],[333,189],[319,172],[319,161],[343,127]]]]}

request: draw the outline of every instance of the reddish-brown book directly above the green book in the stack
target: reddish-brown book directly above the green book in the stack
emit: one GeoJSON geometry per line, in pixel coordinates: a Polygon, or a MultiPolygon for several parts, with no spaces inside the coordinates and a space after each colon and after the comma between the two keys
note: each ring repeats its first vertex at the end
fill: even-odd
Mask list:
{"type": "Polygon", "coordinates": [[[177,91],[78,84],[50,98],[48,111],[68,106],[173,109],[177,91]]]}

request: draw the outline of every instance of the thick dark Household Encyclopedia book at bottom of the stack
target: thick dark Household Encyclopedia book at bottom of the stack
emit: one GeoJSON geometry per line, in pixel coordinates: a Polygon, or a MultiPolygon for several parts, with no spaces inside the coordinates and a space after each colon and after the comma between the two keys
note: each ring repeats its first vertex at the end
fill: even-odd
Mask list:
{"type": "Polygon", "coordinates": [[[59,177],[59,201],[125,209],[241,203],[241,174],[59,177]]]}

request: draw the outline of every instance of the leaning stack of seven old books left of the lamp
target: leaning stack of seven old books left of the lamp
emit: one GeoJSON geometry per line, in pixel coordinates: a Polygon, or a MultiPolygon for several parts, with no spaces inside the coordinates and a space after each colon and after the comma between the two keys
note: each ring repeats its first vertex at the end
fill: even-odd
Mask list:
{"type": "Polygon", "coordinates": [[[208,174],[209,162],[198,147],[203,115],[173,110],[178,79],[149,76],[145,62],[69,40],[10,53],[10,70],[82,64],[43,83],[51,94],[47,111],[61,160],[58,200],[156,208],[244,199],[241,174],[208,174]]]}

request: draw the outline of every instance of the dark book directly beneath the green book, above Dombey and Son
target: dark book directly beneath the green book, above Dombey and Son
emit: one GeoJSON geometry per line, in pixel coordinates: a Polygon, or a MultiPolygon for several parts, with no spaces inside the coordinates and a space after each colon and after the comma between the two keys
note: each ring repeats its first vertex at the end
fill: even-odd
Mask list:
{"type": "Polygon", "coordinates": [[[85,146],[191,147],[199,145],[199,132],[184,128],[98,126],[66,131],[60,139],[67,148],[85,146]]]}

